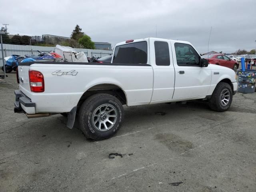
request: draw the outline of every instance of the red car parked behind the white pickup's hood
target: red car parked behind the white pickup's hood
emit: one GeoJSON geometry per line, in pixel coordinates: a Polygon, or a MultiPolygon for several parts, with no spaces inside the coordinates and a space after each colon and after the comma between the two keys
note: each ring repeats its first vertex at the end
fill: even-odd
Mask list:
{"type": "Polygon", "coordinates": [[[238,62],[232,61],[224,54],[206,54],[203,55],[202,58],[205,58],[209,61],[210,64],[216,64],[224,67],[228,67],[236,71],[239,67],[238,62]]]}

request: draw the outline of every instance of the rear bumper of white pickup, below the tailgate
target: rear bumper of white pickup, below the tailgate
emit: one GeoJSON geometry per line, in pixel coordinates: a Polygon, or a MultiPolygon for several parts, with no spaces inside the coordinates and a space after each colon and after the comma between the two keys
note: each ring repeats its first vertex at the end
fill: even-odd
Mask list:
{"type": "Polygon", "coordinates": [[[24,113],[35,114],[36,104],[31,101],[24,93],[20,90],[15,90],[15,102],[14,102],[14,112],[15,113],[24,113]]]}

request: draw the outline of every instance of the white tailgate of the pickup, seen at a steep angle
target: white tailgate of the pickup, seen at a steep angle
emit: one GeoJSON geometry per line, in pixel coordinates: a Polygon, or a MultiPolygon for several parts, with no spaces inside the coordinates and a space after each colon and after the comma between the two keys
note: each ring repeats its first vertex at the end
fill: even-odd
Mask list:
{"type": "Polygon", "coordinates": [[[18,77],[20,81],[20,90],[27,90],[30,92],[30,84],[29,84],[29,71],[30,66],[18,66],[18,77]]]}

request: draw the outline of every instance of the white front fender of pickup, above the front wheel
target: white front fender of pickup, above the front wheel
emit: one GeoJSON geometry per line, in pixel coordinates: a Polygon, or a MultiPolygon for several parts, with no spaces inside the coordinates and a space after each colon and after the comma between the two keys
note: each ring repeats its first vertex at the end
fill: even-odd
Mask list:
{"type": "Polygon", "coordinates": [[[236,82],[236,73],[234,70],[216,64],[209,64],[209,67],[212,70],[212,76],[214,78],[218,77],[219,81],[228,78],[231,80],[231,82],[236,82]]]}

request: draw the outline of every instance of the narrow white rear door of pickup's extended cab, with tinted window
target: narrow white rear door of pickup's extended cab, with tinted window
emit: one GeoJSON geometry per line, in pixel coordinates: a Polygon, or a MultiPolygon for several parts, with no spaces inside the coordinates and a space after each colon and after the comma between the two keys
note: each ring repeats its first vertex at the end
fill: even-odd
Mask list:
{"type": "Polygon", "coordinates": [[[154,70],[151,101],[170,100],[174,92],[175,72],[169,40],[150,38],[150,64],[154,70]]]}

